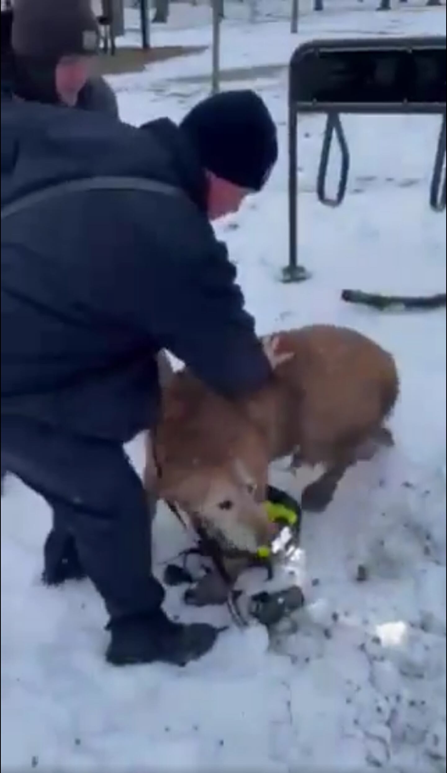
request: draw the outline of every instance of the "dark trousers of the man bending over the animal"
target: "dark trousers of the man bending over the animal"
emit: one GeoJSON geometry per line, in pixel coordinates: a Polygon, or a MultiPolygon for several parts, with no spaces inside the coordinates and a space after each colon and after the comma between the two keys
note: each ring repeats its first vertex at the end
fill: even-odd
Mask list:
{"type": "Polygon", "coordinates": [[[54,525],[73,536],[111,618],[159,609],[164,591],[151,574],[147,497],[120,444],[3,415],[2,463],[53,507],[54,525]]]}

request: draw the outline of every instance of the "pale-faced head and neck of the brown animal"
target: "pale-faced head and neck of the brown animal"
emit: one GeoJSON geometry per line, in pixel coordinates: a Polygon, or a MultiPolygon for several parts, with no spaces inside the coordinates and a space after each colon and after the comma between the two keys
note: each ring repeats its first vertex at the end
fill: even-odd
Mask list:
{"type": "Polygon", "coordinates": [[[256,552],[270,543],[275,530],[264,507],[268,441],[262,431],[188,371],[171,380],[162,408],[155,432],[159,496],[228,546],[256,552]]]}

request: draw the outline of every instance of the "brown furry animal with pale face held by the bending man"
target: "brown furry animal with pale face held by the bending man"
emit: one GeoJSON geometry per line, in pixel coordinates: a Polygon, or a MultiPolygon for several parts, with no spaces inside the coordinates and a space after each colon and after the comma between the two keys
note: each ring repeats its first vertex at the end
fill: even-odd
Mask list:
{"type": "Polygon", "coordinates": [[[163,390],[155,433],[162,499],[250,551],[275,535],[264,508],[270,462],[325,465],[302,492],[304,509],[324,509],[346,468],[392,444],[383,422],[398,397],[393,357],[366,336],[333,325],[275,335],[278,352],[293,356],[264,390],[226,400],[180,371],[163,390]]]}

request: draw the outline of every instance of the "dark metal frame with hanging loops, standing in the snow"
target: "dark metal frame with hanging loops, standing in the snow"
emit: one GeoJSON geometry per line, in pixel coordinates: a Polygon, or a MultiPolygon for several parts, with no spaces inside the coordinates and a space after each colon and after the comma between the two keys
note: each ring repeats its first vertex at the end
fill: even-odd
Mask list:
{"type": "Polygon", "coordinates": [[[334,39],[314,40],[299,46],[292,55],[289,64],[288,78],[288,222],[289,222],[289,261],[283,270],[282,278],[285,282],[299,282],[308,279],[311,274],[298,262],[298,148],[297,128],[300,113],[326,113],[326,129],[323,138],[322,153],[320,156],[317,175],[317,196],[319,201],[326,206],[340,206],[346,193],[346,186],[350,169],[350,152],[340,121],[340,114],[363,115],[396,115],[419,114],[440,115],[442,126],[438,138],[438,146],[435,154],[432,182],[430,186],[429,203],[435,212],[445,209],[445,97],[442,102],[408,103],[404,101],[354,103],[354,102],[322,102],[309,100],[300,94],[300,81],[297,77],[299,66],[306,57],[319,56],[321,53],[336,52],[364,52],[377,51],[406,51],[413,53],[416,50],[444,49],[445,36],[417,37],[417,38],[370,38],[370,39],[334,39]],[[326,173],[329,164],[330,148],[333,138],[336,138],[341,151],[342,163],[340,170],[339,186],[335,197],[326,194],[326,173]]]}

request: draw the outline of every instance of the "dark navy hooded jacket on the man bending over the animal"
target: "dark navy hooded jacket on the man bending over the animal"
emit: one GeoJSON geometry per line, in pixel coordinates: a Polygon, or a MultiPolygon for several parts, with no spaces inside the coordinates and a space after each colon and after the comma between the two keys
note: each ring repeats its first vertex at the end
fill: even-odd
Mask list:
{"type": "Polygon", "coordinates": [[[263,386],[270,366],[181,130],[9,99],[1,121],[2,209],[98,175],[179,189],[71,192],[4,220],[2,414],[127,441],[156,421],[160,349],[228,397],[263,386]]]}

